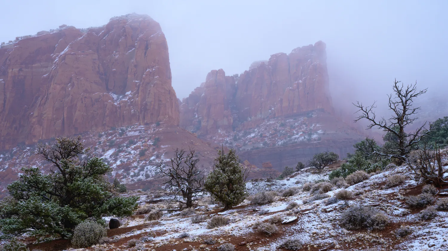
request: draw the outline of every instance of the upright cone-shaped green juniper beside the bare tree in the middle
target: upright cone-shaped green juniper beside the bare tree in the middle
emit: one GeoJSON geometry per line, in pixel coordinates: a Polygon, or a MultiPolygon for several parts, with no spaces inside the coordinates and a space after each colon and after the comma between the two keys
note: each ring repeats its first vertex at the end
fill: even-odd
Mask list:
{"type": "Polygon", "coordinates": [[[218,151],[213,171],[207,176],[205,189],[217,201],[224,204],[224,210],[240,204],[246,197],[246,178],[250,167],[243,168],[234,149],[227,154],[218,151]]]}

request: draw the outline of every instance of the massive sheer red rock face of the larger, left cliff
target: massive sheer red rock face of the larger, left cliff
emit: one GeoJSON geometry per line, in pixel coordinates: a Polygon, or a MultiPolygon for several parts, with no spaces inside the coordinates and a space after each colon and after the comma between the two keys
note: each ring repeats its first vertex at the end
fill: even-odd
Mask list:
{"type": "Polygon", "coordinates": [[[0,149],[112,126],[179,124],[168,45],[146,15],[0,47],[0,149]]]}

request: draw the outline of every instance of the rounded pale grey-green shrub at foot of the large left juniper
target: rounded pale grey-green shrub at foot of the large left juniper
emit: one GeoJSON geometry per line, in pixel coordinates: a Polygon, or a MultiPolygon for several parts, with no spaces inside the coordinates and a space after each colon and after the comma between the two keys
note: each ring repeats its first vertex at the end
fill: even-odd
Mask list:
{"type": "Polygon", "coordinates": [[[72,244],[75,247],[90,247],[105,237],[107,230],[96,222],[81,222],[75,227],[72,244]]]}

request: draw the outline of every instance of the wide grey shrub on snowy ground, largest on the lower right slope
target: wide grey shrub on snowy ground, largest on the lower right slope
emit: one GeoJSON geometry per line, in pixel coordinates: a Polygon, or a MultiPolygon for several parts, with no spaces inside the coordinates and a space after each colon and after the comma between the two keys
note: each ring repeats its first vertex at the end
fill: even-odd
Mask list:
{"type": "Polygon", "coordinates": [[[353,205],[341,214],[340,224],[346,229],[360,229],[367,227],[373,230],[382,230],[388,224],[388,217],[376,209],[353,205]]]}

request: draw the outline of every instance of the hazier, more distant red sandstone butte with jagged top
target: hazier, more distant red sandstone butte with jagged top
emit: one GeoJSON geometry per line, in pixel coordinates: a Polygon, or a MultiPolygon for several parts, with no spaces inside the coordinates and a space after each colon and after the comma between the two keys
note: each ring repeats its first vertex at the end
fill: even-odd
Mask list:
{"type": "Polygon", "coordinates": [[[198,135],[244,130],[267,118],[321,109],[334,113],[328,89],[326,45],[294,49],[252,63],[241,75],[213,70],[182,100],[180,125],[198,135]]]}

